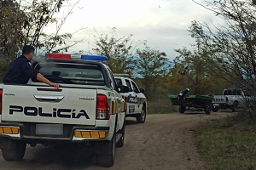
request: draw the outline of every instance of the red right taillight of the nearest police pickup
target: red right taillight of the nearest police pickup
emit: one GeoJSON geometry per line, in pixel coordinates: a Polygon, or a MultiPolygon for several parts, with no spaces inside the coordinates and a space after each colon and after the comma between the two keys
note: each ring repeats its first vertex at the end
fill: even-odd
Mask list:
{"type": "Polygon", "coordinates": [[[97,94],[96,119],[97,120],[109,119],[108,98],[104,94],[97,94]]]}

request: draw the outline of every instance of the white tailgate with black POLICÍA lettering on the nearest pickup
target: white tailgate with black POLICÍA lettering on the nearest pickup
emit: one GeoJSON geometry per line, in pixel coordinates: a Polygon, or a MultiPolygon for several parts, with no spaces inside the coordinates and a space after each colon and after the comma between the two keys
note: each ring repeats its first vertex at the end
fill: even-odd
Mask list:
{"type": "Polygon", "coordinates": [[[4,85],[2,121],[95,125],[96,89],[4,85]]]}

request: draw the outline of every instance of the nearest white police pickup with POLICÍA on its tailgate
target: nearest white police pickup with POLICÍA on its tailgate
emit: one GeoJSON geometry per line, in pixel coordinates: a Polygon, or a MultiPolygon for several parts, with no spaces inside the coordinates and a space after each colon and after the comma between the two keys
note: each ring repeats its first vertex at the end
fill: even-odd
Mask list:
{"type": "Polygon", "coordinates": [[[96,150],[96,163],[113,166],[115,147],[125,137],[125,100],[104,56],[48,54],[32,65],[58,82],[55,89],[30,80],[26,85],[0,84],[0,148],[6,161],[20,161],[26,144],[87,144],[96,150]],[[63,59],[64,58],[64,59],[63,59]]]}

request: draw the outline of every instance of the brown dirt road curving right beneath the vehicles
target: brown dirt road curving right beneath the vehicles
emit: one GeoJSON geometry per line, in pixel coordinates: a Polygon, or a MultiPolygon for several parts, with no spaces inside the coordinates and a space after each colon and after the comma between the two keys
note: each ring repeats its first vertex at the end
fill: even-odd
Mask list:
{"type": "Polygon", "coordinates": [[[96,166],[93,150],[68,147],[54,148],[38,145],[26,149],[23,161],[4,161],[0,169],[86,169],[86,170],[198,170],[206,169],[195,148],[195,129],[201,122],[227,116],[218,112],[206,115],[166,114],[148,115],[144,124],[128,118],[125,128],[125,146],[117,149],[113,167],[96,166]]]}

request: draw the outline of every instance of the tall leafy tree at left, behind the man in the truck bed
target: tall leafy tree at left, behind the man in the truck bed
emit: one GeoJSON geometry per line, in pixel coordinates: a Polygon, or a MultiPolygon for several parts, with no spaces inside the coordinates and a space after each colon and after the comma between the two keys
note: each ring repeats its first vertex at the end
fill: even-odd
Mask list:
{"type": "MultiPolygon", "coordinates": [[[[25,44],[31,44],[41,54],[48,52],[64,52],[73,45],[83,42],[67,43],[73,37],[72,33],[60,34],[61,26],[65,24],[67,17],[72,14],[79,0],[73,4],[67,15],[61,20],[55,17],[63,4],[69,0],[44,0],[44,1],[20,1],[2,0],[0,3],[0,80],[9,65],[10,60],[15,59],[20,48],[25,44]],[[24,4],[25,3],[25,4],[24,4]],[[51,34],[46,34],[44,28],[56,26],[51,34]]],[[[83,28],[81,28],[83,29],[83,28]]],[[[78,31],[76,31],[78,32],[78,31]]],[[[74,33],[76,33],[74,32],[74,33]]]]}

